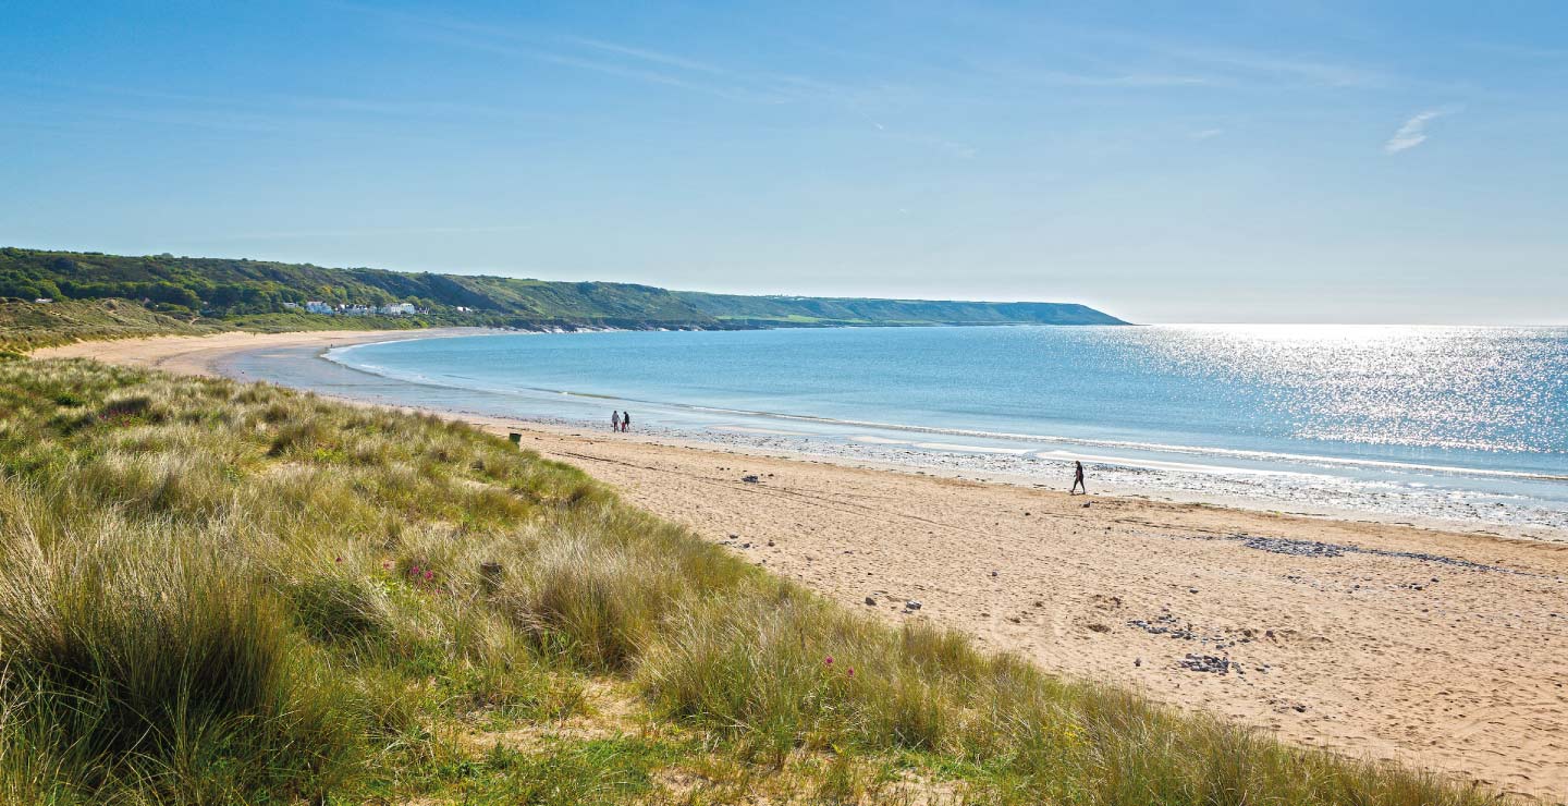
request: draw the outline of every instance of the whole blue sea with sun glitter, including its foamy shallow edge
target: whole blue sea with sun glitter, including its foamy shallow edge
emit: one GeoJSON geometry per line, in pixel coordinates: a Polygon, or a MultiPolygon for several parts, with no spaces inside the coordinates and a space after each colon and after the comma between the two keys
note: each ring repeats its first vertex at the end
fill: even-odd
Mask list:
{"type": "Polygon", "coordinates": [[[1305,514],[1568,530],[1568,328],[485,332],[227,372],[379,403],[1305,514]]]}

